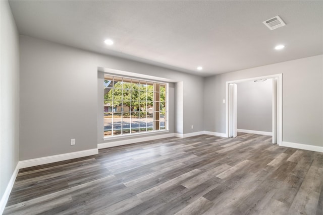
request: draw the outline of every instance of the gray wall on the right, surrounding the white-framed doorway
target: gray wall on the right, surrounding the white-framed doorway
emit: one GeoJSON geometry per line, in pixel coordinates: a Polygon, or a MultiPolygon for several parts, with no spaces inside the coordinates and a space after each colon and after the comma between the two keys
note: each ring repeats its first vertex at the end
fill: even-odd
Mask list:
{"type": "Polygon", "coordinates": [[[204,129],[226,132],[227,81],[283,74],[283,141],[323,146],[323,55],[204,79],[204,129]]]}

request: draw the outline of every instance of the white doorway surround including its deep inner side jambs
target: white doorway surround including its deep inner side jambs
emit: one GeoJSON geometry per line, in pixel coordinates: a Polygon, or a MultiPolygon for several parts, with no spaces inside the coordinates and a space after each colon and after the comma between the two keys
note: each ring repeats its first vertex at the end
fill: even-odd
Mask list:
{"type": "Polygon", "coordinates": [[[237,84],[246,81],[271,79],[273,85],[272,136],[273,144],[282,145],[282,74],[234,80],[226,83],[226,134],[237,135],[237,84]]]}

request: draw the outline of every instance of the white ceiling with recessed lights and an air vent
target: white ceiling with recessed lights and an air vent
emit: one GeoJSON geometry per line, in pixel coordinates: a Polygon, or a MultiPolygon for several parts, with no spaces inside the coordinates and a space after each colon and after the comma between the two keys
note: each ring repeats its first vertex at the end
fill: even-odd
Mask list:
{"type": "Polygon", "coordinates": [[[323,1],[10,1],[10,6],[20,34],[199,76],[323,54],[323,1]],[[263,25],[277,15],[286,26],[271,31],[263,25]],[[115,44],[105,45],[106,38],[115,44]],[[278,44],[285,49],[275,50],[278,44]]]}

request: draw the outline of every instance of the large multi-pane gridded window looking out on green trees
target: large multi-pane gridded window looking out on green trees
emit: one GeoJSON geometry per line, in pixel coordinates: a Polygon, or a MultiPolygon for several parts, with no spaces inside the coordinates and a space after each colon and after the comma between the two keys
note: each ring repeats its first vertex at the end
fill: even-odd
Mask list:
{"type": "Polygon", "coordinates": [[[104,75],[104,137],[167,128],[167,84],[104,75]]]}

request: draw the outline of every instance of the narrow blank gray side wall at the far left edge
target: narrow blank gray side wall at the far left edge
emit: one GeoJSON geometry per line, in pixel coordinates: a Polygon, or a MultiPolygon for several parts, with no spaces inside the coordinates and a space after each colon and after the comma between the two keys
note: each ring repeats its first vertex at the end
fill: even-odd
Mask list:
{"type": "Polygon", "coordinates": [[[8,2],[0,1],[0,4],[0,199],[2,199],[19,160],[19,37],[8,2]]]}

